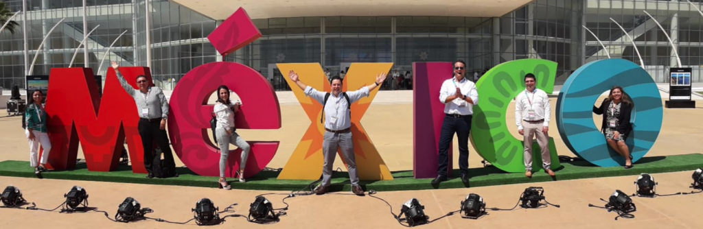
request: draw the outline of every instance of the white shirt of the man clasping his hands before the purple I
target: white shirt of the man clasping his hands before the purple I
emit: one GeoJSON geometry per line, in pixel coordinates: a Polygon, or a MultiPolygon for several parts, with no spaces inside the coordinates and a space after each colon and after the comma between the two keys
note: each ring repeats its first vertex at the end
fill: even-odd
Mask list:
{"type": "Polygon", "coordinates": [[[479,93],[476,90],[476,84],[466,79],[466,77],[459,82],[456,81],[456,78],[451,77],[451,79],[447,79],[441,84],[439,101],[444,103],[444,113],[446,114],[474,114],[474,105],[479,104],[479,93]],[[474,104],[468,103],[461,98],[456,98],[449,103],[444,103],[447,97],[456,93],[457,87],[461,90],[461,94],[471,98],[474,104]]]}

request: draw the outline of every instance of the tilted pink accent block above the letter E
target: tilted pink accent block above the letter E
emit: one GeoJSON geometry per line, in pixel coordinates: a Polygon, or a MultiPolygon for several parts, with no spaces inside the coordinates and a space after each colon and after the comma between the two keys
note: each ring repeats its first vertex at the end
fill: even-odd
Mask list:
{"type": "Polygon", "coordinates": [[[220,54],[227,55],[259,37],[262,37],[262,33],[249,18],[247,11],[244,11],[244,8],[239,8],[212,31],[207,39],[220,54]]]}

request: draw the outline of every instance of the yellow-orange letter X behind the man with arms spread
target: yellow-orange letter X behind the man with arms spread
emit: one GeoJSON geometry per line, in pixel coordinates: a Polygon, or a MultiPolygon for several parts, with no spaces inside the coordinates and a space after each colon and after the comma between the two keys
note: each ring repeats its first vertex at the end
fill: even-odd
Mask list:
{"type": "MultiPolygon", "coordinates": [[[[300,81],[318,91],[330,91],[330,81],[325,77],[322,67],[318,63],[277,64],[283,78],[290,85],[295,97],[302,105],[303,110],[310,119],[310,126],[298,143],[295,151],[283,167],[278,179],[281,180],[317,180],[322,174],[323,154],[322,142],[325,133],[324,124],[320,123],[322,117],[322,104],[305,96],[305,93],[288,78],[290,70],[298,74],[300,81]]],[[[373,84],[376,74],[389,72],[392,63],[353,63],[349,67],[347,76],[344,77],[342,91],[354,91],[362,86],[373,84]]],[[[390,76],[389,76],[390,77],[390,76]]],[[[368,110],[371,101],[378,93],[377,87],[367,98],[362,98],[352,103],[352,135],[354,136],[354,153],[356,154],[356,171],[359,178],[366,181],[393,180],[388,167],[378,154],[378,150],[361,126],[361,117],[368,110]]],[[[344,162],[342,151],[337,151],[344,162]]],[[[344,165],[346,167],[346,162],[344,165]]]]}

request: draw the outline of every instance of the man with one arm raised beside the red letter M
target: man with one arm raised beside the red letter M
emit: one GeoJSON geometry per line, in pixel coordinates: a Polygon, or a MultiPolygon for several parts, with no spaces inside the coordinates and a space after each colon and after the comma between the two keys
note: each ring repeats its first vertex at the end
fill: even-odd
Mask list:
{"type": "MultiPolygon", "coordinates": [[[[117,73],[117,79],[120,80],[120,84],[124,91],[127,91],[129,96],[134,98],[136,102],[137,112],[139,114],[139,136],[141,136],[141,144],[144,148],[144,167],[148,171],[147,178],[154,178],[153,164],[161,163],[161,157],[154,157],[152,152],[152,143],[156,143],[161,148],[164,153],[164,159],[168,171],[171,171],[172,176],[178,176],[176,174],[176,163],[174,162],[174,156],[171,152],[171,147],[169,145],[169,138],[166,134],[166,119],[169,116],[169,103],[164,96],[164,92],[157,86],[151,86],[148,79],[144,75],[139,75],[136,77],[136,85],[138,91],[134,90],[127,80],[122,77],[120,71],[117,70],[120,67],[117,62],[112,61],[112,68],[115,69],[117,73]]],[[[162,174],[162,173],[160,173],[162,174]]],[[[165,178],[161,176],[160,178],[165,178]]]]}

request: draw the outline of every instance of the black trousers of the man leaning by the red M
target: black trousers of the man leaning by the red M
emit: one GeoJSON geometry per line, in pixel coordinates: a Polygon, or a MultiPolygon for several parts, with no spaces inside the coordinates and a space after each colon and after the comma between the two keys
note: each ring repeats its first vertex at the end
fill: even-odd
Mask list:
{"type": "Polygon", "coordinates": [[[139,119],[138,129],[139,136],[141,136],[141,145],[144,148],[144,167],[146,167],[146,171],[148,171],[149,174],[153,174],[153,164],[161,162],[161,157],[154,157],[154,151],[152,150],[154,141],[159,145],[159,148],[161,148],[161,152],[164,153],[166,166],[171,169],[176,168],[174,155],[169,146],[169,138],[166,134],[166,130],[160,129],[160,125],[161,119],[154,119],[152,121],[139,119]]]}

